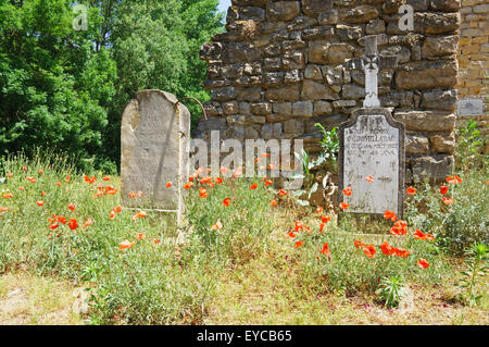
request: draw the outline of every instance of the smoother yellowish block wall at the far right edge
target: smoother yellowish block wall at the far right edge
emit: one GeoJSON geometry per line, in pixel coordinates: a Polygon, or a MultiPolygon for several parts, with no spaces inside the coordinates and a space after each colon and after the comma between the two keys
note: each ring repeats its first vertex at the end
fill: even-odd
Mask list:
{"type": "MultiPolygon", "coordinates": [[[[477,121],[487,135],[489,106],[489,3],[487,0],[462,0],[461,33],[459,49],[459,99],[480,98],[484,100],[484,113],[459,116],[460,125],[467,119],[477,121]]],[[[486,152],[489,146],[486,144],[486,152]]]]}

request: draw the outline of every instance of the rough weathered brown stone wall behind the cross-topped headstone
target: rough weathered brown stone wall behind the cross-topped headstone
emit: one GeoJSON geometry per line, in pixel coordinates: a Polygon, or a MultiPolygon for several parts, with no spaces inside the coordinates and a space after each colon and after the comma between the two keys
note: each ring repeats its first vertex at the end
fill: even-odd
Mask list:
{"type": "Polygon", "coordinates": [[[379,72],[383,107],[406,125],[406,181],[441,178],[453,164],[460,0],[233,0],[227,32],[201,49],[212,91],[199,135],[303,138],[321,150],[315,123],[327,128],[362,107],[364,74],[346,60],[377,35],[381,55],[399,57],[379,72]],[[414,7],[414,29],[399,28],[399,7],[414,7]]]}

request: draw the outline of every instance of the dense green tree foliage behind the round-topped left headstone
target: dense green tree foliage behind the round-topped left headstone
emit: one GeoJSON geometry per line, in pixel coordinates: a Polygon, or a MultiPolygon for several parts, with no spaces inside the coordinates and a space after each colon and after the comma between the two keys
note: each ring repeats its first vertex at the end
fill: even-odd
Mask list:
{"type": "Polygon", "coordinates": [[[222,30],[217,0],[79,2],[87,30],[74,29],[75,1],[0,0],[0,156],[41,146],[117,162],[137,90],[209,98],[199,48],[222,30]]]}

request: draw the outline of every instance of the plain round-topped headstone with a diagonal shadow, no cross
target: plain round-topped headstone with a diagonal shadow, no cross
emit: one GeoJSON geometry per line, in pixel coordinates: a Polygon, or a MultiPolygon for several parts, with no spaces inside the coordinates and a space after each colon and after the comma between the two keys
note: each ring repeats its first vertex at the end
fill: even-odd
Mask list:
{"type": "Polygon", "coordinates": [[[190,113],[161,90],[138,91],[124,109],[121,127],[121,190],[125,207],[183,211],[189,176],[190,113]],[[172,182],[170,188],[166,184],[172,182]],[[141,191],[140,198],[129,193],[141,191]]]}

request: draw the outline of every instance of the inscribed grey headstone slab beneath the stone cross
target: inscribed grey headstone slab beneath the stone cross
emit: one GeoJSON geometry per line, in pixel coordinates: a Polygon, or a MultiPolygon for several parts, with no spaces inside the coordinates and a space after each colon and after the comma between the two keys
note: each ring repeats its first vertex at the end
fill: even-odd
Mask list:
{"type": "Polygon", "coordinates": [[[347,212],[403,216],[404,124],[388,109],[356,109],[339,125],[339,197],[350,203],[347,212]],[[366,176],[373,176],[369,183],[366,176]],[[342,189],[351,187],[352,195],[342,189]]]}

